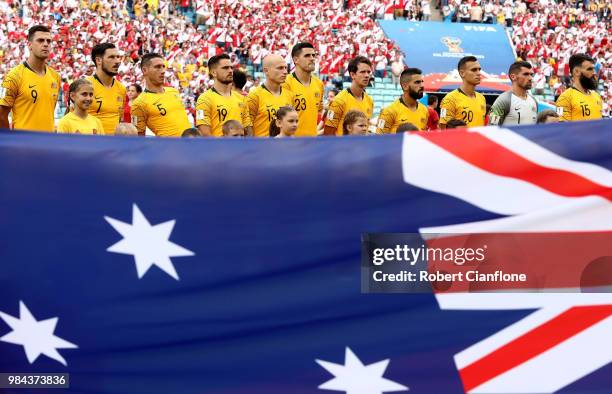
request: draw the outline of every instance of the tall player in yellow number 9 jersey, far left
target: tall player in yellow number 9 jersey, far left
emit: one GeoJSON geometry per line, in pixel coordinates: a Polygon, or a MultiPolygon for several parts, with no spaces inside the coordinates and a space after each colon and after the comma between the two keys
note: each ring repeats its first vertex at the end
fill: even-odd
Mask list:
{"type": "Polygon", "coordinates": [[[61,85],[60,75],[47,66],[51,53],[51,31],[36,25],[28,31],[28,60],[11,69],[0,86],[0,128],[55,130],[55,105],[61,85]]]}

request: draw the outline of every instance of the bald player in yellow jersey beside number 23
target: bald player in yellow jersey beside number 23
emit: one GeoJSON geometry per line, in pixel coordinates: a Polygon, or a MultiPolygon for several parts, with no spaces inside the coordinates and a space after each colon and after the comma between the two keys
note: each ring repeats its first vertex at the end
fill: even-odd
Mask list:
{"type": "Polygon", "coordinates": [[[247,96],[255,137],[269,137],[270,122],[276,119],[276,111],[280,107],[293,105],[295,97],[293,92],[282,88],[287,79],[287,63],[281,56],[266,56],[263,59],[263,71],[266,80],[247,96]]]}

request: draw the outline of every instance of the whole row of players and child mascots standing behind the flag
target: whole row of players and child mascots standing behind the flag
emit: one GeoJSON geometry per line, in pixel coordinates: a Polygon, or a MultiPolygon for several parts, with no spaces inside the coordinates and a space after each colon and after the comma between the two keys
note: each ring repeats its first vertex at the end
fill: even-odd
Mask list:
{"type": "MultiPolygon", "coordinates": [[[[233,68],[226,54],[213,56],[209,73],[213,86],[196,103],[196,129],[187,116],[180,92],[165,86],[166,62],[156,53],[145,54],[141,61],[146,89],[131,107],[132,126],[122,124],[126,88],[115,77],[121,56],[110,43],[93,48],[94,75],[74,81],[69,88],[70,111],[54,126],[54,110],[59,96],[59,74],[46,65],[52,36],[42,25],[28,31],[28,60],[13,68],[0,88],[0,128],[62,133],[144,135],[149,128],[159,137],[180,136],[316,136],[323,111],[323,82],[313,75],[317,54],[311,43],[295,45],[291,56],[295,71],[289,74],[285,60],[276,54],[263,60],[264,82],[247,97],[235,89],[233,68]]],[[[600,119],[602,100],[597,93],[594,61],[577,54],[569,61],[572,87],[557,100],[557,112],[547,112],[540,121],[600,119]]],[[[448,93],[440,105],[440,129],[484,126],[487,105],[476,87],[482,79],[478,59],[466,56],[458,63],[461,87],[448,93]]],[[[374,102],[366,93],[372,79],[372,63],[363,56],[348,65],[351,86],[338,93],[327,109],[323,135],[366,134],[373,116],[374,102]]],[[[512,89],[501,94],[491,107],[492,125],[533,124],[538,122],[538,104],[529,94],[533,71],[528,62],[515,62],[508,75],[512,89]]],[[[400,76],[401,97],[379,117],[376,132],[396,133],[431,129],[427,106],[419,102],[424,94],[423,73],[407,68],[400,76]]],[[[436,123],[437,120],[434,120],[436,123]]],[[[436,126],[434,124],[434,126],[436,126]]],[[[436,127],[434,127],[436,128],[436,127]]]]}

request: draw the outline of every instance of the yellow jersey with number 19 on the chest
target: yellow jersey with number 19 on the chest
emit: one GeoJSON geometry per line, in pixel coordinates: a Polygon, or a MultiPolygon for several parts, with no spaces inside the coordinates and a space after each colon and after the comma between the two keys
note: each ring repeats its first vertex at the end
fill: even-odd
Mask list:
{"type": "Polygon", "coordinates": [[[237,120],[243,127],[253,125],[247,108],[246,98],[232,90],[229,97],[215,88],[208,89],[196,102],[196,126],[209,126],[213,137],[223,136],[223,124],[237,120]]]}

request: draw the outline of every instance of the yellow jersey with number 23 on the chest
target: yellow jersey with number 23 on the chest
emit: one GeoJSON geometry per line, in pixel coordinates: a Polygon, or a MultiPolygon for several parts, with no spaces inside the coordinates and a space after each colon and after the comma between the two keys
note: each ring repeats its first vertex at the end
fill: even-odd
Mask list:
{"type": "Polygon", "coordinates": [[[305,86],[297,75],[292,73],[287,76],[283,88],[295,94],[293,108],[298,113],[298,129],[295,136],[316,137],[319,113],[323,111],[323,91],[325,90],[323,82],[313,75],[310,77],[310,85],[305,86]]]}

